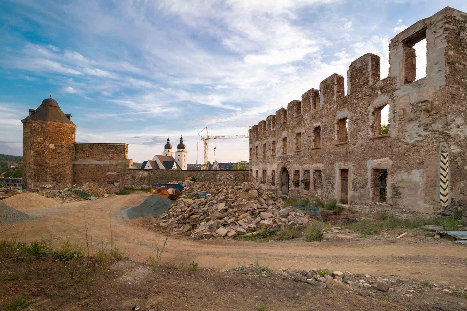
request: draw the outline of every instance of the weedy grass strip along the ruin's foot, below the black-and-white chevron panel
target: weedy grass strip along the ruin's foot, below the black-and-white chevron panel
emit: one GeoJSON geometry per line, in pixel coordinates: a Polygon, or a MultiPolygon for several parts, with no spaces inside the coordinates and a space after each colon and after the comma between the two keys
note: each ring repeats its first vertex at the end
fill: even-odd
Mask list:
{"type": "Polygon", "coordinates": [[[375,220],[357,221],[346,227],[366,235],[375,235],[381,230],[413,229],[421,228],[425,225],[442,226],[444,230],[457,230],[457,221],[461,217],[462,213],[458,212],[451,217],[414,217],[404,219],[393,214],[381,212],[375,220]]]}

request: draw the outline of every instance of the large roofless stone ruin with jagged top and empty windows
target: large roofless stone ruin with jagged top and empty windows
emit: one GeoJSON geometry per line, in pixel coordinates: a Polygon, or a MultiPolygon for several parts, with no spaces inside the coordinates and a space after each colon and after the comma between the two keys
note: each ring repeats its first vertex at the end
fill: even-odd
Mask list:
{"type": "Polygon", "coordinates": [[[250,179],[349,208],[451,214],[467,203],[467,14],[446,7],[365,54],[250,131],[250,179]],[[414,44],[426,38],[426,77],[414,44]],[[381,111],[389,105],[389,133],[381,111]],[[448,157],[446,157],[446,154],[448,157]],[[446,162],[448,160],[448,162],[446,162]],[[264,173],[263,173],[264,172],[264,173]]]}

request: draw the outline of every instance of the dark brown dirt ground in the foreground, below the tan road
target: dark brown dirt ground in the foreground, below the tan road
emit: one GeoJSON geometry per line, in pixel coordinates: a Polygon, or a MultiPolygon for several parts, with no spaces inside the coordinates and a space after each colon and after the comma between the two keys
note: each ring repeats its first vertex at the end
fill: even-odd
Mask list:
{"type": "Polygon", "coordinates": [[[467,299],[437,290],[378,292],[342,285],[322,289],[258,268],[219,273],[149,266],[131,260],[5,261],[0,256],[1,310],[466,310],[467,299]],[[263,308],[260,308],[263,306],[263,308]]]}

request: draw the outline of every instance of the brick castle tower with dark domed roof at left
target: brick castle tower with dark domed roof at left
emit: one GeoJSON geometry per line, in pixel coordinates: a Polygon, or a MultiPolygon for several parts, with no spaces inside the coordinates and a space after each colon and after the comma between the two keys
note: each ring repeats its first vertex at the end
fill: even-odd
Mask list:
{"type": "Polygon", "coordinates": [[[49,184],[57,189],[72,185],[76,125],[53,98],[29,109],[23,124],[23,184],[49,184]]]}

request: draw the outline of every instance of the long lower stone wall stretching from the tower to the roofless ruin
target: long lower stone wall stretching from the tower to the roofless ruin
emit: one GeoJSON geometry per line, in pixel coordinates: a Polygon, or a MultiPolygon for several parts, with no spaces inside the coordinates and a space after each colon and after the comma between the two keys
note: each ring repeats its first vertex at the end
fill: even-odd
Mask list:
{"type": "MultiPolygon", "coordinates": [[[[129,160],[128,160],[129,161],[129,160]]],[[[78,186],[95,182],[115,193],[123,188],[149,188],[193,176],[197,181],[248,181],[248,171],[188,171],[128,169],[126,161],[75,161],[73,180],[78,186]]]]}

